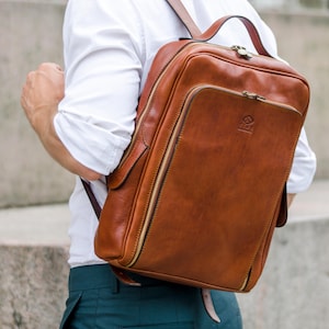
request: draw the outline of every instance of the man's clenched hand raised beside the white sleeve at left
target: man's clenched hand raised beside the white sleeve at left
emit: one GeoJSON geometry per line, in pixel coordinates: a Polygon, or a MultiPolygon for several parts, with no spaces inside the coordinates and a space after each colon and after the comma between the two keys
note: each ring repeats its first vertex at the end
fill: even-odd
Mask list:
{"type": "Polygon", "coordinates": [[[21,95],[21,105],[33,128],[53,120],[64,98],[64,71],[54,63],[44,63],[27,75],[21,95]]]}

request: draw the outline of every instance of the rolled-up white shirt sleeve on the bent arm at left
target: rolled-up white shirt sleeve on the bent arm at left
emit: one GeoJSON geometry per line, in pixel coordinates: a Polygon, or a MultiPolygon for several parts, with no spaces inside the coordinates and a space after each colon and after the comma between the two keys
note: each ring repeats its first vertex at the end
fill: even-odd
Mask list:
{"type": "Polygon", "coordinates": [[[139,95],[143,39],[134,13],[102,1],[69,1],[64,23],[65,98],[54,118],[71,156],[112,172],[131,141],[139,95]],[[135,24],[134,26],[132,26],[135,24]]]}

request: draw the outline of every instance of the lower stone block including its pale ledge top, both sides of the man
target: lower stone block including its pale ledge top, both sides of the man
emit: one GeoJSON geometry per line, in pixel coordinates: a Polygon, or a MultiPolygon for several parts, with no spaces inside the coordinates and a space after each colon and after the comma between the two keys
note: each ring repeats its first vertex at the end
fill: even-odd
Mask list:
{"type": "MultiPolygon", "coordinates": [[[[245,329],[328,328],[328,200],[329,180],[296,197],[288,224],[275,230],[259,283],[237,294],[245,329]]],[[[1,329],[58,328],[69,217],[67,205],[0,209],[1,329]]]]}

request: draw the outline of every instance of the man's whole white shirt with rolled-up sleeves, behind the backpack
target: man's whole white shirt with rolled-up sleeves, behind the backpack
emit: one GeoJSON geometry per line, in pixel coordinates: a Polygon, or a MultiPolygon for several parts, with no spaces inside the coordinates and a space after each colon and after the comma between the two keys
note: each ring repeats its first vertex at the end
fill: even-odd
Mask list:
{"type": "MultiPolygon", "coordinates": [[[[245,0],[183,0],[202,31],[227,14],[249,18],[273,56],[276,43],[271,30],[245,0]]],[[[102,174],[117,166],[134,131],[135,110],[150,64],[163,44],[189,36],[164,0],[70,0],[64,23],[66,92],[55,117],[55,128],[70,154],[102,174]]],[[[229,21],[214,43],[234,44],[256,52],[245,27],[229,21]]],[[[308,188],[316,167],[305,132],[295,152],[287,183],[290,193],[308,188]]],[[[92,182],[102,205],[104,181],[92,182]]],[[[69,235],[71,266],[101,263],[94,254],[98,219],[77,179],[70,197],[69,235]]]]}

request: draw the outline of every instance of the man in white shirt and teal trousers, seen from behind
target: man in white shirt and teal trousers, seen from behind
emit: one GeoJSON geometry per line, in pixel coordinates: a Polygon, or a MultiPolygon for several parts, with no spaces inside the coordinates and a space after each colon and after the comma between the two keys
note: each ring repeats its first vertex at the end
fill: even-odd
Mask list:
{"type": "MultiPolygon", "coordinates": [[[[183,2],[202,31],[223,15],[249,18],[276,56],[272,32],[248,1],[183,2]]],[[[65,73],[55,64],[43,64],[27,76],[22,106],[32,127],[56,161],[91,182],[101,205],[107,192],[104,177],[131,141],[154,56],[163,44],[185,36],[188,31],[164,0],[70,0],[64,23],[65,73]]],[[[256,52],[237,22],[228,22],[212,42],[256,52]]],[[[291,197],[308,188],[315,166],[303,131],[287,184],[291,197]]],[[[94,254],[98,219],[79,179],[70,209],[70,294],[61,328],[241,328],[231,293],[212,292],[220,318],[216,322],[197,288],[146,277],[139,277],[141,287],[118,283],[94,254]]]]}

